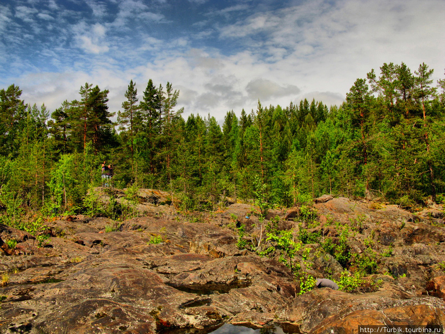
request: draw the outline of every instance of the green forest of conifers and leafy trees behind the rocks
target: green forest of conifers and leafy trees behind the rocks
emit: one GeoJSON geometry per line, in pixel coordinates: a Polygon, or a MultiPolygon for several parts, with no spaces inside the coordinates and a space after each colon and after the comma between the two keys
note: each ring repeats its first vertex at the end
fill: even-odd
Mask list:
{"type": "Polygon", "coordinates": [[[322,194],[442,202],[445,80],[432,75],[424,63],[385,63],[352,83],[342,105],[259,100],[228,111],[222,127],[211,110],[185,119],[169,82],[138,83],[138,95],[131,81],[116,112],[107,90],[86,83],[51,114],[11,84],[0,91],[1,222],[82,213],[104,161],[114,187],[168,191],[182,210],[216,210],[225,198],[290,207],[322,194]]]}

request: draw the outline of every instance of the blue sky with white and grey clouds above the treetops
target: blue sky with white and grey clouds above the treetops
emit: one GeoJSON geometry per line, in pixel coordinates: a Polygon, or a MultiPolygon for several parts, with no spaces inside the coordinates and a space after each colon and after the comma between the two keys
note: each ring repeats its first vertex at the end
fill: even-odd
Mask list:
{"type": "Polygon", "coordinates": [[[130,80],[183,116],[307,98],[339,105],[384,63],[445,69],[445,0],[0,0],[0,89],[50,112],[85,83],[122,110],[130,80]]]}

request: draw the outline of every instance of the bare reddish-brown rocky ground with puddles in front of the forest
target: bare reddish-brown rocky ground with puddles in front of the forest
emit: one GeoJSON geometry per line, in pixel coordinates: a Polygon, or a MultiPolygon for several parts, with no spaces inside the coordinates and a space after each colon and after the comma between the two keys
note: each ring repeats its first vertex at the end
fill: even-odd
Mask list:
{"type": "Polygon", "coordinates": [[[47,221],[51,237],[40,245],[0,225],[0,332],[209,333],[231,323],[330,334],[357,333],[358,325],[445,325],[439,206],[411,213],[323,196],[313,204],[313,219],[295,207],[269,210],[261,220],[257,208],[240,203],[179,213],[167,197],[139,191],[136,209],[144,216],[124,222],[87,216],[47,221]],[[349,292],[299,294],[278,251],[258,255],[273,245],[267,232],[279,230],[292,231],[295,240],[313,237],[293,259],[313,277],[338,281],[344,268],[357,270],[356,262],[342,266],[323,250],[327,239],[334,246],[346,242],[351,259],[372,249],[373,273],[349,292]],[[10,239],[17,240],[14,249],[10,239]]]}

